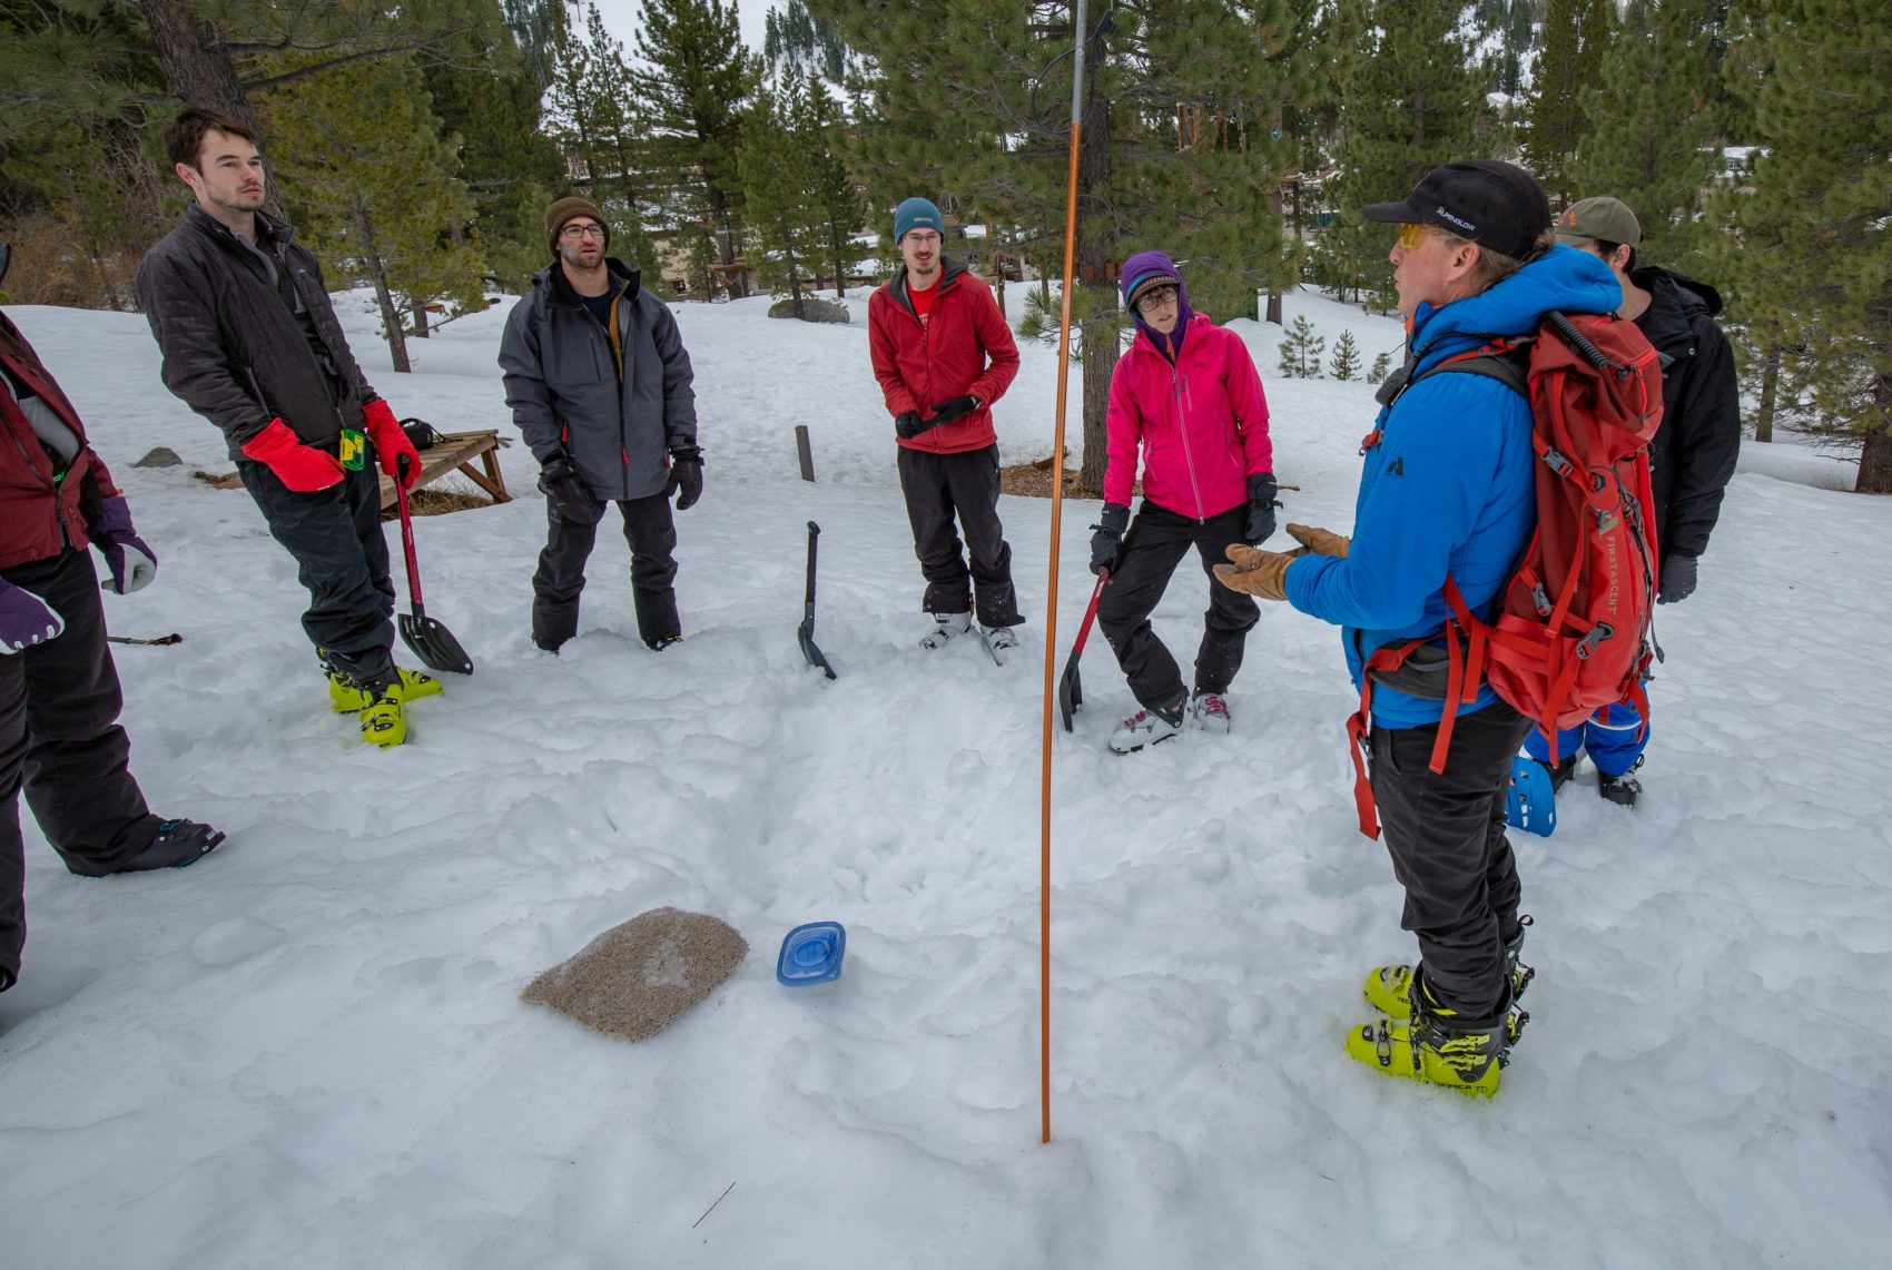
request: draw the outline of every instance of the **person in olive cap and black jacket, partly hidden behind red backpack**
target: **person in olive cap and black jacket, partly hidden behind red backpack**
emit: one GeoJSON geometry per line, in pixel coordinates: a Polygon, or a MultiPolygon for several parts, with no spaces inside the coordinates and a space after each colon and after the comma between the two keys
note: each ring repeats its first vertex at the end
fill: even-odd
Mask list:
{"type": "MultiPolygon", "coordinates": [[[[1656,492],[1656,549],[1661,553],[1657,604],[1676,604],[1695,592],[1697,560],[1722,515],[1722,492],[1735,475],[1741,454],[1741,394],[1735,352],[1714,324],[1722,295],[1695,282],[1637,259],[1642,223],[1621,199],[1597,195],[1557,216],[1557,240],[1587,252],[1610,267],[1623,288],[1616,316],[1637,324],[1661,358],[1661,426],[1650,441],[1650,481],[1656,492]]],[[[1589,751],[1597,765],[1597,791],[1610,803],[1635,806],[1642,782],[1648,729],[1635,706],[1604,706],[1578,727],[1557,734],[1557,765],[1550,744],[1531,732],[1525,753],[1550,768],[1561,789],[1589,751]]]]}

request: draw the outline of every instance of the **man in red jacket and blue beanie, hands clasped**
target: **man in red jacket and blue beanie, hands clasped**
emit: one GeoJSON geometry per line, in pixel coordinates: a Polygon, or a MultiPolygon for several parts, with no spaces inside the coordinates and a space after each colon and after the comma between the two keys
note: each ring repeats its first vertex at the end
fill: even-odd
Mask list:
{"type": "Polygon", "coordinates": [[[925,199],[895,210],[893,240],[906,265],[867,301],[868,348],[893,415],[906,519],[927,579],[921,608],[933,630],[920,644],[942,647],[971,630],[976,596],[986,642],[1003,659],[1018,647],[1012,626],[1024,617],[999,524],[991,403],[1018,375],[1018,344],[991,290],[942,254],[942,229],[925,199]]]}

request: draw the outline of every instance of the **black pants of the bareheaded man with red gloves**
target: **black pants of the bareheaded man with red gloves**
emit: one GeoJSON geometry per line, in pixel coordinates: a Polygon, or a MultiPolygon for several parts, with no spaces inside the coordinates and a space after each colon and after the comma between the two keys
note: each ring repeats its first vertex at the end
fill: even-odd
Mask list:
{"type": "Polygon", "coordinates": [[[265,464],[236,471],[269,532],[295,556],[308,589],[303,630],[324,661],[363,687],[394,679],[394,579],[380,532],[380,475],[375,464],[339,485],[297,494],[265,464]]]}

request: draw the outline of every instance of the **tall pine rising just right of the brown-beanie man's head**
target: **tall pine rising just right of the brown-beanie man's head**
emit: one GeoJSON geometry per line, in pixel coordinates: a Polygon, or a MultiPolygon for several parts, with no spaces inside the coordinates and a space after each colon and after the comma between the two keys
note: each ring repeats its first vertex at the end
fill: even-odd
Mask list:
{"type": "Polygon", "coordinates": [[[762,79],[761,59],[742,45],[730,0],[645,0],[630,89],[643,115],[649,153],[689,221],[698,259],[710,257],[738,293],[742,233],[744,102],[762,79]]]}

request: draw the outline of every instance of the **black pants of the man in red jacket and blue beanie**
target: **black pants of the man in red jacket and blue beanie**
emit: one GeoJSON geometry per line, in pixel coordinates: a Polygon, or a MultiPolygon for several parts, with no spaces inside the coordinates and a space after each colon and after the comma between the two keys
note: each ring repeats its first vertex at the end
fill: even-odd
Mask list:
{"type": "Polygon", "coordinates": [[[984,626],[1025,621],[1012,589],[1012,547],[999,524],[999,447],[931,454],[902,445],[901,492],[914,526],[920,573],[927,579],[920,608],[927,613],[976,611],[984,626]]]}

